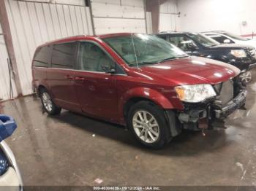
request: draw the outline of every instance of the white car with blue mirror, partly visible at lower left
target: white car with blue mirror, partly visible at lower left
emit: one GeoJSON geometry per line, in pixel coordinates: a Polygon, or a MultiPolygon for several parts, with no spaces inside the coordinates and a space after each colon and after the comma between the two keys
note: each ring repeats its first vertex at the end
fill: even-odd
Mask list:
{"type": "Polygon", "coordinates": [[[23,181],[15,157],[4,141],[16,128],[12,117],[0,114],[0,190],[4,191],[23,190],[23,181]]]}

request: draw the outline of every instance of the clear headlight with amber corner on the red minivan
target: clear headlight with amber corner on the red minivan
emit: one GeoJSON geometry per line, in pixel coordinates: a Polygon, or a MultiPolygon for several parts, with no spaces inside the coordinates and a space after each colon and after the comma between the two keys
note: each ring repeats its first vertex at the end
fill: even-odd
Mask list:
{"type": "Polygon", "coordinates": [[[214,88],[211,85],[181,85],[175,87],[175,90],[181,101],[191,103],[198,103],[216,96],[214,88]]]}

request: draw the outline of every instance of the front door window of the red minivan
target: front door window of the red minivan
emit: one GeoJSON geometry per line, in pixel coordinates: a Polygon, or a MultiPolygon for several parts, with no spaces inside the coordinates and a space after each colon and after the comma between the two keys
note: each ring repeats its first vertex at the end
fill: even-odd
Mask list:
{"type": "Polygon", "coordinates": [[[78,67],[84,71],[110,71],[115,66],[112,59],[96,44],[81,42],[78,67]]]}

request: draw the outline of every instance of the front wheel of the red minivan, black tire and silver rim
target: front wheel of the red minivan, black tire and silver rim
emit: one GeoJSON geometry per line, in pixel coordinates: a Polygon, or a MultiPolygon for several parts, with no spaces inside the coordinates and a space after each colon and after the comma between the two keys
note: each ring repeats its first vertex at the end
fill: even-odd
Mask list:
{"type": "Polygon", "coordinates": [[[170,142],[164,111],[150,101],[140,101],[129,109],[127,125],[143,146],[160,149],[170,142]]]}

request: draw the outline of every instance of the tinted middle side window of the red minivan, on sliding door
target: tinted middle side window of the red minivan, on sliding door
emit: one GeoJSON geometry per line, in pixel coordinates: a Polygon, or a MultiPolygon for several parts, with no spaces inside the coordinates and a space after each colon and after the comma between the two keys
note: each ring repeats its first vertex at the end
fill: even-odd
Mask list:
{"type": "Polygon", "coordinates": [[[76,42],[53,45],[51,66],[59,69],[72,69],[75,61],[76,42]]]}

